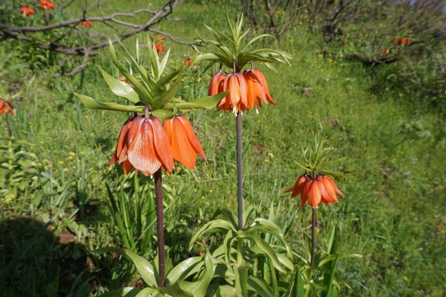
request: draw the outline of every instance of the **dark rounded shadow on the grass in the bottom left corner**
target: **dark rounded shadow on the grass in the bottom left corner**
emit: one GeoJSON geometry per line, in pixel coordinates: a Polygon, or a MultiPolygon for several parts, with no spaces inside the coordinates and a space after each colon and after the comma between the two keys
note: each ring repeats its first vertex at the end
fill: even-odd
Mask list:
{"type": "Polygon", "coordinates": [[[70,293],[74,293],[72,296],[86,296],[97,290],[98,281],[92,275],[97,259],[89,256],[88,248],[77,243],[75,235],[67,229],[55,234],[55,224],[57,220],[17,257],[20,249],[44,224],[27,217],[9,217],[0,222],[0,282],[3,296],[56,297],[70,293]],[[13,259],[16,262],[8,269],[13,259]],[[89,281],[84,283],[86,279],[89,281]]]}

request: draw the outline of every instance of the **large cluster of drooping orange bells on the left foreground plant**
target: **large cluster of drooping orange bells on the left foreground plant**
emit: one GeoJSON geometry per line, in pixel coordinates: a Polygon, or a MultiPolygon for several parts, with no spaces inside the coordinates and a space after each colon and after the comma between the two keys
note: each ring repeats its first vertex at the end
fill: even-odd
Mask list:
{"type": "Polygon", "coordinates": [[[126,175],[135,168],[136,172],[149,176],[160,167],[170,175],[173,160],[193,170],[197,153],[206,161],[204,150],[184,115],[165,120],[164,127],[157,117],[132,115],[121,128],[116,150],[107,165],[119,162],[126,175]]]}

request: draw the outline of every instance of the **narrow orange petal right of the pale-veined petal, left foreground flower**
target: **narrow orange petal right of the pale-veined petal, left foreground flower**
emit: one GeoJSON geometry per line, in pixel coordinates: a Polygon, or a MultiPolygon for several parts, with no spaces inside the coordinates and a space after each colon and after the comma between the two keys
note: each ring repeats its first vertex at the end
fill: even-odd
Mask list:
{"type": "Polygon", "coordinates": [[[156,148],[155,153],[159,156],[159,160],[161,161],[164,170],[170,175],[173,169],[173,156],[166,131],[157,117],[152,116],[148,121],[153,129],[153,140],[156,148]]]}

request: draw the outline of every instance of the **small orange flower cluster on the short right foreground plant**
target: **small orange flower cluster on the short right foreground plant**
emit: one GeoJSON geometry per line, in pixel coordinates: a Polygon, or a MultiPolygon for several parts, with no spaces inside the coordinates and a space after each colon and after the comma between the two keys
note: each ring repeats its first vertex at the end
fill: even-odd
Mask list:
{"type": "Polygon", "coordinates": [[[344,196],[336,187],[332,178],[322,174],[316,176],[315,179],[303,174],[299,176],[294,186],[285,192],[292,192],[291,198],[300,195],[300,207],[303,207],[308,200],[312,208],[319,206],[321,201],[325,204],[330,203],[332,205],[333,202],[339,203],[339,200],[336,198],[336,193],[344,196]]]}

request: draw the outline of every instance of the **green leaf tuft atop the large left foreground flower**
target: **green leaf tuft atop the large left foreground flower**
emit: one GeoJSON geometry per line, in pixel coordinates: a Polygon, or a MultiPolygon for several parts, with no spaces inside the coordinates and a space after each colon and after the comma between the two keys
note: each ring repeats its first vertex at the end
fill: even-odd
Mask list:
{"type": "MultiPolygon", "coordinates": [[[[184,63],[181,63],[178,71],[164,74],[170,49],[167,50],[165,57],[160,61],[160,57],[155,48],[155,42],[152,44],[149,35],[147,35],[147,44],[151,62],[150,72],[148,72],[141,64],[139,41],[136,40],[135,60],[135,58],[128,52],[117,37],[116,39],[119,46],[124,50],[133,66],[136,68],[137,74],[133,75],[131,69],[129,71],[122,66],[121,63],[119,63],[115,49],[111,43],[111,40],[109,40],[111,59],[113,60],[114,65],[133,87],[126,82],[115,79],[101,67],[99,67],[99,70],[101,71],[102,76],[114,95],[125,98],[136,105],[123,105],[114,102],[104,103],[85,95],[73,93],[79,99],[81,99],[82,103],[86,107],[122,112],[144,112],[145,106],[149,105],[150,114],[159,119],[166,119],[191,109],[213,108],[226,96],[227,91],[214,96],[202,97],[191,101],[184,101],[175,98],[174,96],[178,90],[182,75],[189,71],[191,67],[185,68],[184,63]]],[[[195,58],[196,56],[197,54],[195,55],[195,58]]]]}

